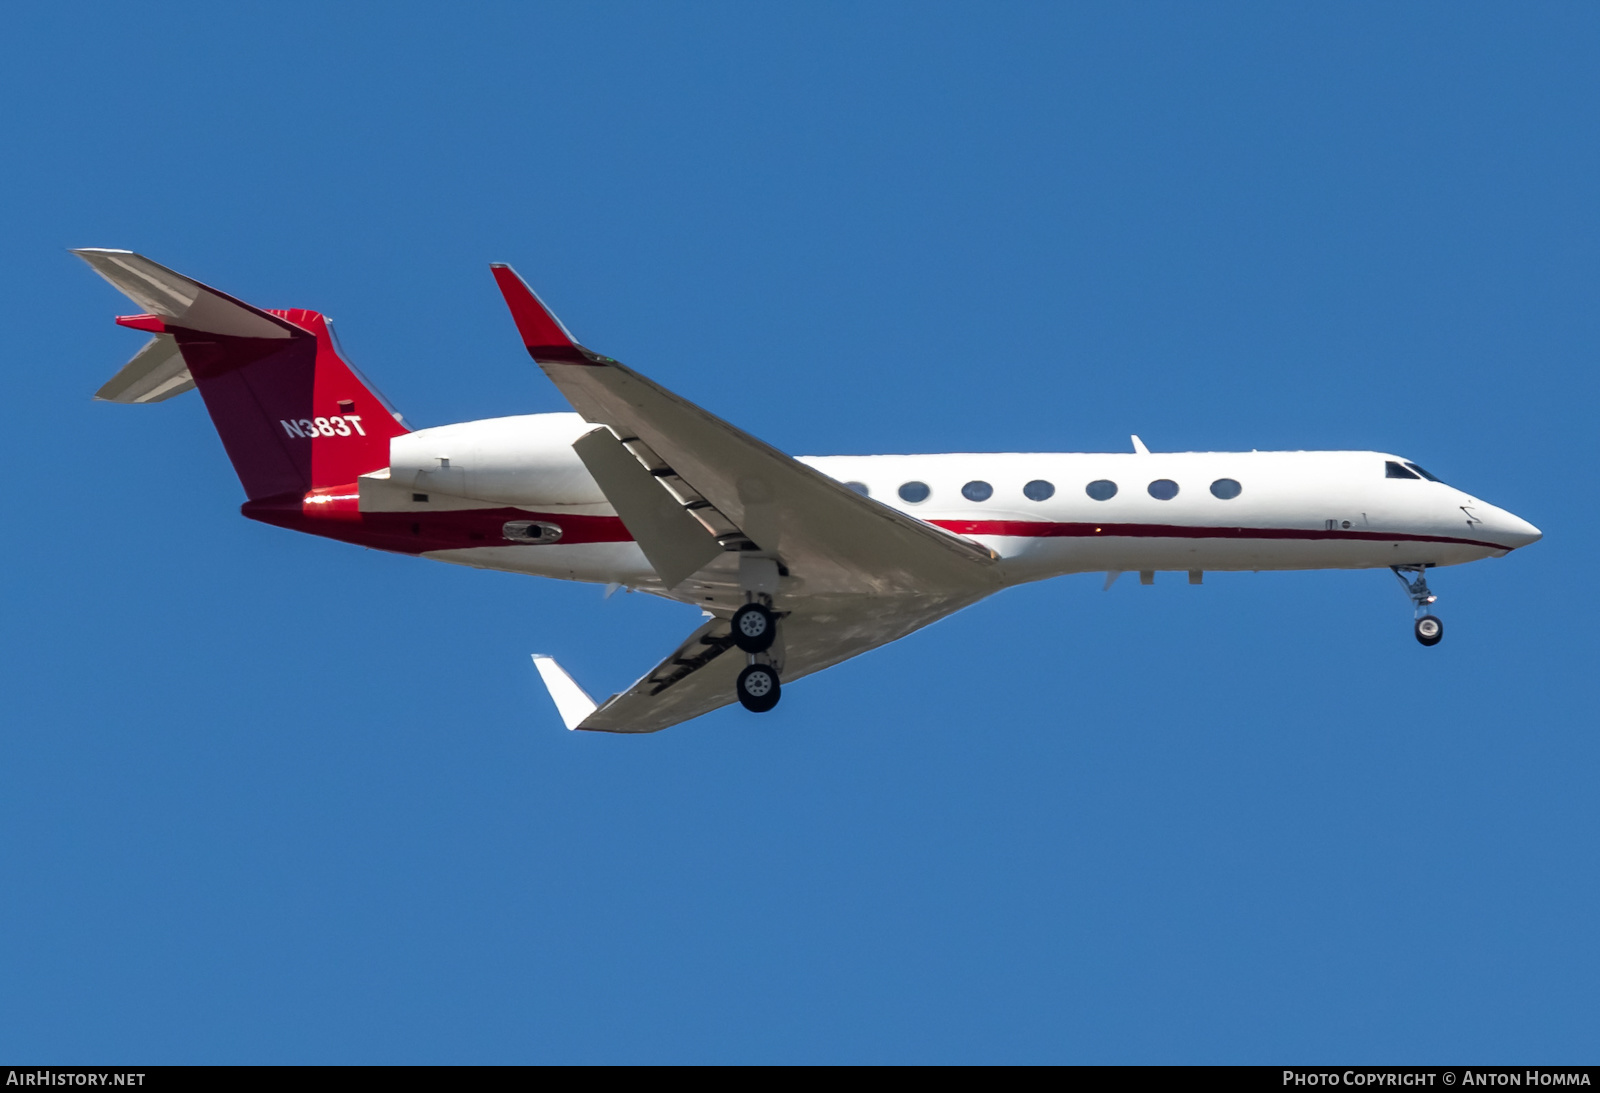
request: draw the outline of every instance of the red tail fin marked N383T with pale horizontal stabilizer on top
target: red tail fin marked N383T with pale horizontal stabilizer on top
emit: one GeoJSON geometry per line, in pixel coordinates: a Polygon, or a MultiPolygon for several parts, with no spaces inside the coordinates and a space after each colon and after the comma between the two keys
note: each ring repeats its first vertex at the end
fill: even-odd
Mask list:
{"type": "Polygon", "coordinates": [[[146,312],[117,322],[154,334],[96,398],[162,402],[198,387],[253,502],[298,509],[312,490],[389,466],[389,440],[408,429],[323,315],[251,307],[133,251],[72,253],[146,312]]]}

